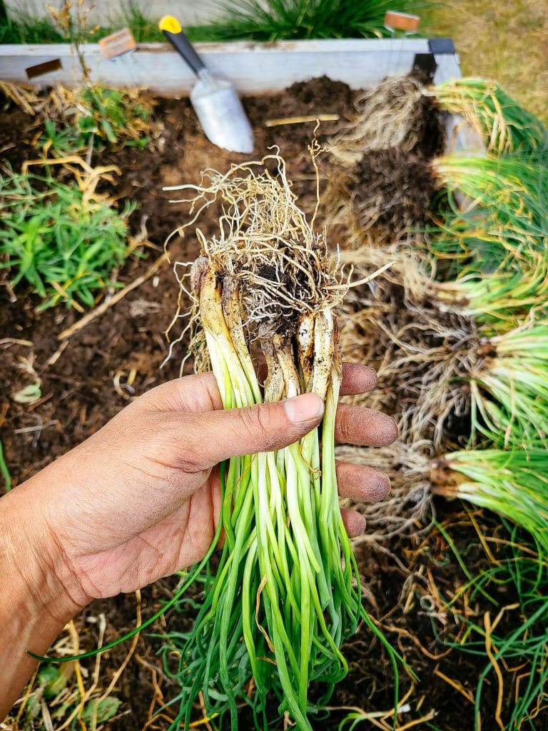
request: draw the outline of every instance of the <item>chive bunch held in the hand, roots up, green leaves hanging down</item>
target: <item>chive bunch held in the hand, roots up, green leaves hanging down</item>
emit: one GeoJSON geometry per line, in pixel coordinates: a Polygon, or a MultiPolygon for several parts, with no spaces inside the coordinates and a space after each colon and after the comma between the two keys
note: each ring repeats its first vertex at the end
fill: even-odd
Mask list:
{"type": "Polygon", "coordinates": [[[249,703],[262,727],[273,692],[279,713],[311,730],[310,683],[322,683],[321,706],[346,675],[340,645],[360,619],[381,637],[362,609],[335,478],[335,308],[347,285],[324,232],[313,232],[297,206],[279,156],[233,165],[225,175],[210,170],[200,186],[180,189],[193,192],[185,202],[197,211],[194,220],[213,202],[223,211],[217,235],[197,230],[191,287],[194,345],[207,348],[198,360],[209,361],[224,408],[315,392],[325,413],[298,444],[233,458],[224,469],[226,539],[216,575],[193,632],[186,640],[172,635],[164,647],[181,686],[172,728],[188,726],[199,694],[208,714],[229,710],[233,729],[238,703],[249,703]],[[264,386],[257,353],[267,366],[264,386]]]}

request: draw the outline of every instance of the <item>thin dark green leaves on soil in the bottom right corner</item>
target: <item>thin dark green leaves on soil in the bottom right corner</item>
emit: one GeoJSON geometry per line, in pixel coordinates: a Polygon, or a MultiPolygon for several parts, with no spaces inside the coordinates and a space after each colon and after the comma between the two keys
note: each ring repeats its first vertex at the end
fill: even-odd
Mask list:
{"type": "Polygon", "coordinates": [[[492,610],[489,621],[486,615],[482,619],[460,612],[457,616],[467,626],[466,632],[462,639],[446,644],[483,666],[473,679],[474,731],[480,731],[481,716],[484,722],[492,718],[492,710],[485,712],[486,702],[492,709],[499,698],[506,731],[540,731],[544,728],[542,714],[537,719],[536,708],[539,702],[542,707],[543,698],[545,707],[548,684],[548,556],[541,545],[515,526],[503,521],[502,527],[506,536],[498,534],[501,548],[496,551],[497,562],[466,585],[468,606],[485,591],[500,596],[501,604],[492,610]],[[486,640],[490,640],[491,659],[486,640]],[[509,670],[516,667],[520,670],[509,670]]]}

